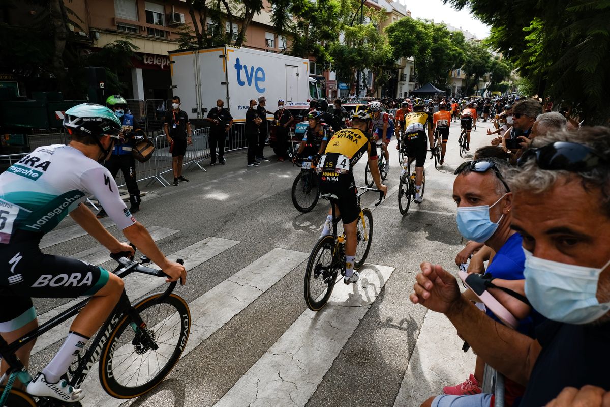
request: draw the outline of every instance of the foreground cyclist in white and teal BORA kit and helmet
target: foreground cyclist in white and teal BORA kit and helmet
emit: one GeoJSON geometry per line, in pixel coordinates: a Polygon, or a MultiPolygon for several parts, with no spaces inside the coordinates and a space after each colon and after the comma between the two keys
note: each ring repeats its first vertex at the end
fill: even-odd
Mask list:
{"type": "MultiPolygon", "coordinates": [[[[186,272],[184,266],[163,256],[146,228],[127,210],[110,172],[98,163],[109,157],[120,139],[119,118],[107,107],[79,104],[65,112],[63,126],[71,135],[68,145],[38,147],[0,175],[0,290],[4,304],[0,333],[10,343],[37,327],[31,297],[91,297],[74,319],[57,355],[27,386],[32,395],[76,402],[84,393],[61,377],[114,308],[123,292],[123,281],[96,265],[41,253],[41,237],[70,214],[112,253],[133,255],[132,248],[112,236],[82,204],[95,195],[124,236],[170,276],[167,281],[180,278],[184,284],[186,272]]],[[[26,368],[32,347],[34,340],[16,351],[26,368]]],[[[6,369],[2,361],[0,374],[6,369]]]]}

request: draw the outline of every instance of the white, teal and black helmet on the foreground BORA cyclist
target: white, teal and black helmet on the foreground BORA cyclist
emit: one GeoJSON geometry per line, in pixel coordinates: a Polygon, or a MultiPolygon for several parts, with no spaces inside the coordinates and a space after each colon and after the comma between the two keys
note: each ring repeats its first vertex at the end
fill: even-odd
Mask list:
{"type": "Polygon", "coordinates": [[[70,134],[102,137],[110,135],[118,139],[121,132],[121,120],[112,110],[101,104],[82,103],[66,110],[63,116],[63,127],[70,134]]]}

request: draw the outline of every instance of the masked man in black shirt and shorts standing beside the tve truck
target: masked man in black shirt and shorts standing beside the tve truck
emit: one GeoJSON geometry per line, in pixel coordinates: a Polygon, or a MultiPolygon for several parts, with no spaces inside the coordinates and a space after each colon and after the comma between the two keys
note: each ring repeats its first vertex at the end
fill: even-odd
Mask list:
{"type": "Polygon", "coordinates": [[[187,112],[180,109],[180,98],[174,96],[171,98],[171,110],[165,114],[165,137],[170,143],[171,152],[171,167],[174,171],[174,186],[178,186],[178,182],[188,182],[188,179],[182,176],[182,160],[187,151],[187,144],[191,144],[193,140],[188,121],[187,112]]]}

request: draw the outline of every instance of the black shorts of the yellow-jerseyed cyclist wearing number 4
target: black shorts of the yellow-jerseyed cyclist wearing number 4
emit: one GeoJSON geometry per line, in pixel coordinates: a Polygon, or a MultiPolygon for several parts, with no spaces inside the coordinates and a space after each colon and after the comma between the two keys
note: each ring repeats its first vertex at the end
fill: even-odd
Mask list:
{"type": "Polygon", "coordinates": [[[356,181],[351,171],[347,174],[322,171],[320,177],[320,193],[337,195],[337,207],[343,224],[352,223],[360,216],[360,203],[356,195],[356,181]]]}

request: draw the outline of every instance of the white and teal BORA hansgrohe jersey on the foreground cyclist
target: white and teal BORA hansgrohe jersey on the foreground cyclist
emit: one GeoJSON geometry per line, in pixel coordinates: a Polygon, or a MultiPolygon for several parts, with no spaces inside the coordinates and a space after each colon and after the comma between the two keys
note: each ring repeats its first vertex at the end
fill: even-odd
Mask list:
{"type": "Polygon", "coordinates": [[[106,168],[71,146],[38,147],[0,175],[0,243],[40,240],[91,195],[120,229],[135,223],[106,168]]]}

